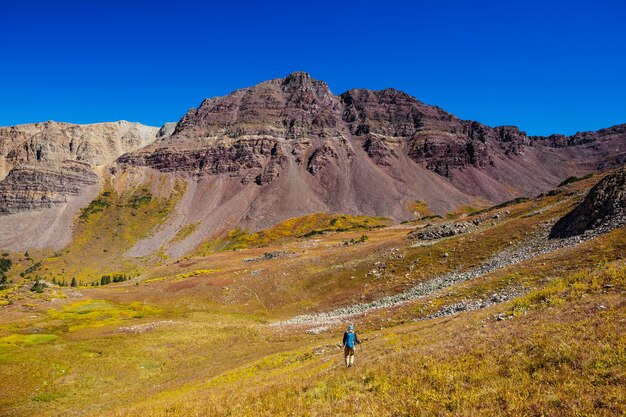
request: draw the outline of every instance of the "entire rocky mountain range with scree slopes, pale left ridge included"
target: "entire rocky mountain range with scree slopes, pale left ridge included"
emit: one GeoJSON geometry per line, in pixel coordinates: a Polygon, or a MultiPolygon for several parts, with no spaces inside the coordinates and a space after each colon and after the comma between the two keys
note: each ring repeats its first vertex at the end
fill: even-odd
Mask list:
{"type": "Polygon", "coordinates": [[[68,218],[55,221],[69,230],[70,214],[102,184],[167,194],[183,183],[176,210],[132,256],[180,256],[235,227],[257,230],[314,212],[402,221],[487,206],[626,161],[626,125],[528,136],[513,126],[461,120],[394,89],[336,96],[303,72],[206,99],[160,133],[127,126],[113,140],[94,131],[79,135],[79,151],[67,132],[92,128],[64,126],[0,133],[0,166],[8,173],[0,182],[0,213],[8,215],[0,223],[82,197],[68,218]],[[67,189],[55,185],[59,170],[68,173],[67,189]],[[22,186],[30,183],[37,185],[22,186]],[[185,227],[193,230],[177,238],[185,227]]]}

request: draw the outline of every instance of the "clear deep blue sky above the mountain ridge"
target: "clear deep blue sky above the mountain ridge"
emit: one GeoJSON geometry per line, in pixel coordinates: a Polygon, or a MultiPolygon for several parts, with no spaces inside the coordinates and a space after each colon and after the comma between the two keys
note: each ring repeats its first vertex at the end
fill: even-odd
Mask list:
{"type": "Polygon", "coordinates": [[[296,70],[530,134],[626,123],[624,0],[0,0],[0,16],[3,126],[156,126],[296,70]]]}

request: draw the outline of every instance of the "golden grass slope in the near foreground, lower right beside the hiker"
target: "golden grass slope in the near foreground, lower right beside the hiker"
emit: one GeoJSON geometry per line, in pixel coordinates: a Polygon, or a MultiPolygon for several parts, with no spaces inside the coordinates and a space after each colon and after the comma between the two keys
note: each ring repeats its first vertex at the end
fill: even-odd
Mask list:
{"type": "Polygon", "coordinates": [[[534,307],[504,322],[492,308],[368,334],[354,369],[330,346],[302,349],[114,415],[620,415],[625,284],[626,267],[612,264],[555,280],[560,303],[530,293],[534,307]]]}

